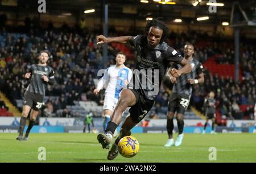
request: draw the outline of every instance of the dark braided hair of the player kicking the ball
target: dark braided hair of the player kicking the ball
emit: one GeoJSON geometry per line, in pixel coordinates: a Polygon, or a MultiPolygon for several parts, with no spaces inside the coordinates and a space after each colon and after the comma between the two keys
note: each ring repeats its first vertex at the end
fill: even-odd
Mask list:
{"type": "Polygon", "coordinates": [[[145,27],[144,35],[146,36],[148,35],[148,32],[151,27],[155,27],[163,30],[163,35],[162,35],[162,38],[160,39],[160,43],[164,42],[164,40],[166,40],[169,33],[169,29],[167,25],[161,20],[157,20],[157,19],[148,20],[145,27]]]}

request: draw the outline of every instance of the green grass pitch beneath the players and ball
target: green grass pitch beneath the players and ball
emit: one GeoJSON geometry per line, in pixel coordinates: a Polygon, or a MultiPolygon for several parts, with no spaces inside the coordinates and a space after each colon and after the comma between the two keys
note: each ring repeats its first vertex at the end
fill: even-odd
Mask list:
{"type": "Polygon", "coordinates": [[[170,148],[163,147],[166,134],[132,135],[140,143],[139,153],[109,161],[96,134],[31,134],[27,142],[15,140],[16,134],[0,134],[0,162],[42,162],[39,147],[46,148],[43,162],[256,162],[256,134],[185,134],[181,146],[170,148]],[[216,147],[216,161],[209,160],[209,147],[216,147]]]}

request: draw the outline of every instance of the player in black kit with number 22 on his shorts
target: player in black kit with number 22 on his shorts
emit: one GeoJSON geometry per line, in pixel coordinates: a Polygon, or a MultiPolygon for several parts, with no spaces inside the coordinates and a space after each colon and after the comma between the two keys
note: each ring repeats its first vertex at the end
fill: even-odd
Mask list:
{"type": "MultiPolygon", "coordinates": [[[[171,82],[174,84],[172,88],[172,94],[169,98],[168,113],[167,113],[167,132],[168,141],[164,147],[170,147],[172,145],[180,146],[183,140],[183,129],[184,129],[184,113],[187,110],[189,100],[192,94],[192,85],[201,84],[204,82],[203,65],[193,59],[194,47],[188,43],[184,47],[185,59],[192,65],[192,72],[182,74],[180,77],[173,77],[170,74],[171,82]],[[197,78],[197,79],[196,79],[197,78]],[[176,142],[172,137],[172,131],[174,130],[174,114],[177,112],[177,126],[179,129],[179,135],[177,136],[176,142]]],[[[172,65],[173,68],[180,69],[181,66],[178,64],[172,65]]]]}

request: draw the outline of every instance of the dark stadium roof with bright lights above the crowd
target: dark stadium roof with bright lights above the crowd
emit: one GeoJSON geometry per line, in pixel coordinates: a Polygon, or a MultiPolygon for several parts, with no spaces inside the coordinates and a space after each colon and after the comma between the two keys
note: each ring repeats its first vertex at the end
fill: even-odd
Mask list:
{"type": "MultiPolygon", "coordinates": [[[[26,13],[35,13],[38,8],[38,1],[35,0],[14,0],[17,1],[17,6],[2,6],[1,11],[13,10],[23,11],[26,13]]],[[[182,19],[183,23],[211,23],[220,24],[223,21],[230,22],[232,16],[232,8],[234,1],[218,1],[224,3],[224,6],[218,6],[216,13],[209,12],[208,2],[213,0],[158,0],[162,3],[155,2],[156,0],[147,0],[148,3],[142,3],[141,0],[46,0],[47,13],[61,15],[63,13],[69,15],[81,15],[84,10],[95,9],[95,13],[86,14],[87,16],[104,15],[104,4],[109,5],[109,18],[129,18],[129,19],[144,19],[161,18],[163,20],[173,21],[174,19],[182,19]],[[163,4],[164,2],[176,3],[175,5],[163,4]],[[209,20],[197,21],[200,16],[209,16],[209,20]]],[[[237,1],[246,13],[250,23],[256,20],[256,1],[243,0],[237,1]]],[[[86,16],[85,16],[86,17],[86,16]]]]}

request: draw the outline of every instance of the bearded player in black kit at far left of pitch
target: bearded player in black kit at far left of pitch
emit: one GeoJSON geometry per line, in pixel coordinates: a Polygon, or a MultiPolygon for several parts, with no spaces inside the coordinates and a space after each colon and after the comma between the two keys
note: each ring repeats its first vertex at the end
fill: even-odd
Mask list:
{"type": "Polygon", "coordinates": [[[25,78],[30,80],[30,82],[24,93],[22,117],[20,118],[19,136],[16,138],[17,140],[28,139],[28,134],[35,125],[36,117],[43,105],[47,84],[54,84],[54,71],[47,65],[48,59],[49,55],[47,51],[40,52],[39,64],[31,65],[30,72],[25,74],[25,78]],[[30,123],[26,135],[23,138],[23,130],[29,113],[30,123]]]}

